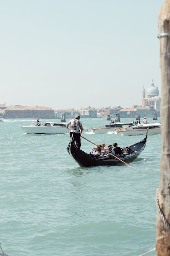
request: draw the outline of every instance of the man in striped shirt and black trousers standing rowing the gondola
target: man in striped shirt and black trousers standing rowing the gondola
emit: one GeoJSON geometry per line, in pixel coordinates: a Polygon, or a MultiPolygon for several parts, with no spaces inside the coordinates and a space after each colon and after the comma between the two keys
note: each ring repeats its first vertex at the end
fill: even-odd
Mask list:
{"type": "Polygon", "coordinates": [[[82,134],[82,131],[83,131],[82,122],[79,119],[80,119],[80,115],[76,115],[74,119],[70,120],[66,124],[66,129],[70,130],[70,137],[72,137],[72,134],[74,132],[74,138],[78,148],[80,148],[81,146],[80,135],[82,134]],[[68,128],[69,125],[70,127],[68,128]]]}

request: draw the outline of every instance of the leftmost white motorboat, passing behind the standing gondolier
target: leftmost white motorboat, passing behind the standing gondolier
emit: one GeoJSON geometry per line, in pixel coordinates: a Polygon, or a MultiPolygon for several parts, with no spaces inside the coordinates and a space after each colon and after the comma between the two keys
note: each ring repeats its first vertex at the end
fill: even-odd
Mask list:
{"type": "MultiPolygon", "coordinates": [[[[65,134],[69,133],[66,129],[67,123],[54,123],[54,122],[33,122],[31,125],[23,126],[21,124],[21,129],[27,133],[37,133],[37,134],[65,134]]],[[[87,132],[88,128],[83,127],[83,132],[87,132]]]]}

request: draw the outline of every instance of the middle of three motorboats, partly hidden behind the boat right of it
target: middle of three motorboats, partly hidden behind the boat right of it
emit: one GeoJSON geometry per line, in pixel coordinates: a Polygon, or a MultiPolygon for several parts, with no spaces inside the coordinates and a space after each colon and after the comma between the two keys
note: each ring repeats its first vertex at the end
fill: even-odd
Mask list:
{"type": "Polygon", "coordinates": [[[133,123],[126,122],[126,123],[114,123],[114,124],[99,125],[98,128],[91,127],[91,130],[95,134],[103,134],[103,133],[108,133],[108,132],[114,132],[116,127],[122,127],[123,125],[133,125],[133,123]]]}

